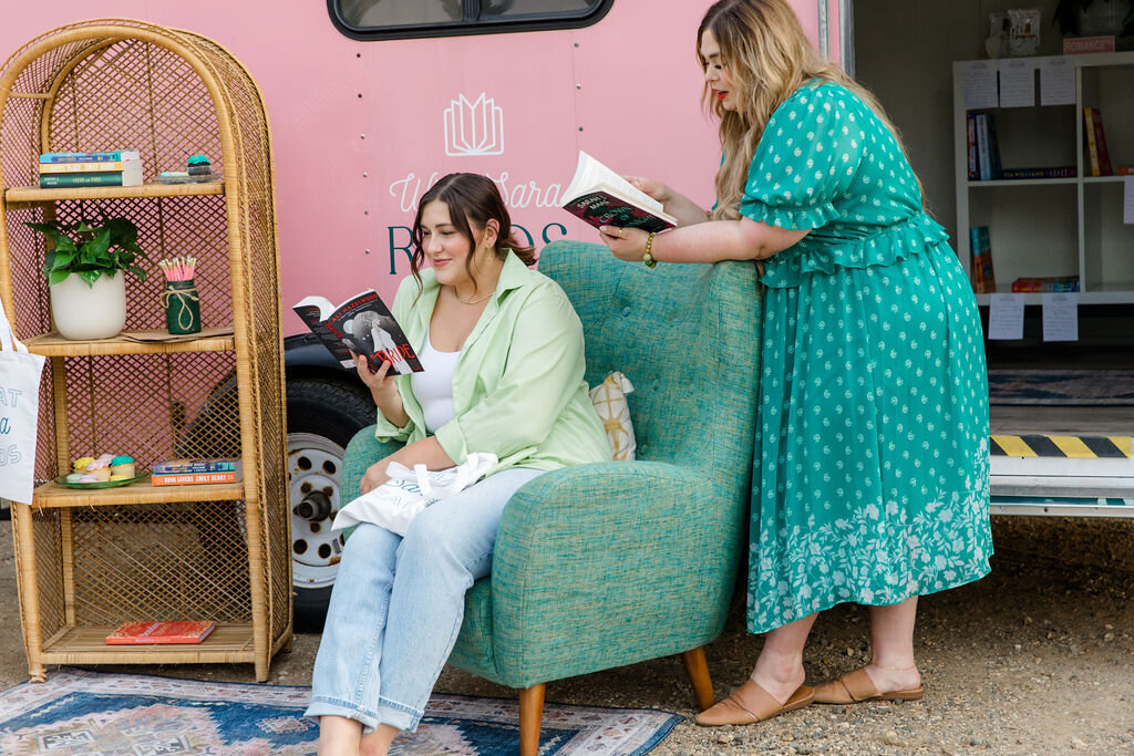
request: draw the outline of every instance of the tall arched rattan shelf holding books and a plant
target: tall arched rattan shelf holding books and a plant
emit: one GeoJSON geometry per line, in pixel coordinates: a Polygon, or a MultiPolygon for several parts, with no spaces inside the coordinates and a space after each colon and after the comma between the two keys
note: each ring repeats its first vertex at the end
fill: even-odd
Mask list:
{"type": "Polygon", "coordinates": [[[43,34],[0,69],[0,297],[18,337],[50,357],[41,387],[39,485],[14,503],[28,669],[48,664],[251,662],[268,678],[291,639],[279,255],[271,137],[244,66],[192,32],[98,19],[43,34]],[[43,152],[136,148],[145,184],[37,188],[43,152]],[[154,184],[209,155],[222,180],[154,184]],[[42,237],[26,221],[125,215],[156,261],[197,258],[205,331],[164,330],[162,277],[127,283],[124,335],[52,331],[42,237]],[[230,329],[230,330],[229,330],[230,329]],[[147,334],[146,332],[150,332],[147,334]],[[129,338],[141,337],[143,340],[129,338]],[[54,483],[77,457],[238,457],[230,484],[54,483]],[[135,620],[211,619],[200,645],[108,646],[135,620]]]}

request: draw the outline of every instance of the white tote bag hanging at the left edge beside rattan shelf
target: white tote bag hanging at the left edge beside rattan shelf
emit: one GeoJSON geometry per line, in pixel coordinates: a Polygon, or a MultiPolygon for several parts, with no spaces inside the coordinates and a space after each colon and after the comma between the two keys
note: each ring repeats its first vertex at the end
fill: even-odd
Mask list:
{"type": "Polygon", "coordinates": [[[16,340],[0,303],[0,499],[32,503],[43,357],[16,340]]]}

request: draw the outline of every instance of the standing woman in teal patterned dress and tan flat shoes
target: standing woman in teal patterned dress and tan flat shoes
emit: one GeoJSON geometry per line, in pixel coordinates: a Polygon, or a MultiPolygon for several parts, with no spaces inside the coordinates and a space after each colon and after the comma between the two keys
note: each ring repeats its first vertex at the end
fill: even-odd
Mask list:
{"type": "Polygon", "coordinates": [[[822,59],[786,0],[720,0],[697,31],[723,160],[708,213],[600,229],[628,262],[756,260],[764,295],[753,470],[750,679],[700,724],[922,696],[917,597],[989,572],[989,419],[976,301],[877,100],[822,59]],[[869,605],[871,662],[816,689],[818,612],[869,605]]]}

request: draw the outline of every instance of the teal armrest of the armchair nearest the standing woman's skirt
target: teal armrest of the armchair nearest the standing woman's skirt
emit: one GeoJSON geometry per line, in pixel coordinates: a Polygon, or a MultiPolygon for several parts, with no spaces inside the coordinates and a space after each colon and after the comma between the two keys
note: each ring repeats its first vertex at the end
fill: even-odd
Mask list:
{"type": "Polygon", "coordinates": [[[716,638],[747,530],[747,493],[709,475],[600,462],[517,491],[492,563],[500,676],[532,685],[716,638]]]}

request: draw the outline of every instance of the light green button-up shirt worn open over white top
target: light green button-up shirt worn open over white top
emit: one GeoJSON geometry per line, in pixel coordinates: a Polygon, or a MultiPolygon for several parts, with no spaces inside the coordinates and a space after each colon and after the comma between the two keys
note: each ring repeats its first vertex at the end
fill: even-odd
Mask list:
{"type": "MultiPolygon", "coordinates": [[[[406,277],[393,316],[421,351],[438,292],[432,269],[423,289],[406,277]]],[[[583,325],[555,281],[508,253],[497,288],[465,340],[452,374],[456,416],[433,434],[460,465],[472,452],[491,452],[508,467],[551,470],[610,460],[602,423],[583,380],[583,325]]],[[[395,379],[409,422],[397,427],[378,413],[380,440],[412,443],[425,438],[425,417],[409,375],[395,379]]],[[[491,474],[491,473],[490,473],[491,474]]]]}

